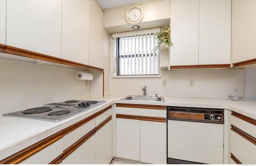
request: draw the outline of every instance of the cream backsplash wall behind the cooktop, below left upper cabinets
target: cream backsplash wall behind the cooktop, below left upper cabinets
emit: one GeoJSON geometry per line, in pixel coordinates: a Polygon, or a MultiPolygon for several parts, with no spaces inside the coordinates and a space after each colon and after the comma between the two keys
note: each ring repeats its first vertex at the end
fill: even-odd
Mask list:
{"type": "Polygon", "coordinates": [[[76,70],[0,59],[0,114],[89,96],[76,70]]]}

